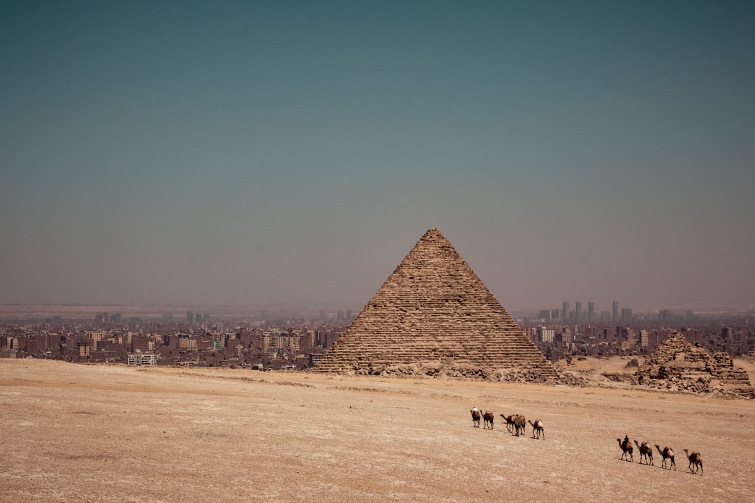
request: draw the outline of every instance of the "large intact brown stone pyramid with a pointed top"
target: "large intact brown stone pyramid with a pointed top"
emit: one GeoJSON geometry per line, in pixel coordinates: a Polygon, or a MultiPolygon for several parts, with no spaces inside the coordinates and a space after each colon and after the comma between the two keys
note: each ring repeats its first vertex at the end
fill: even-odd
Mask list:
{"type": "Polygon", "coordinates": [[[434,228],[414,245],[313,370],[520,381],[559,378],[434,228]]]}

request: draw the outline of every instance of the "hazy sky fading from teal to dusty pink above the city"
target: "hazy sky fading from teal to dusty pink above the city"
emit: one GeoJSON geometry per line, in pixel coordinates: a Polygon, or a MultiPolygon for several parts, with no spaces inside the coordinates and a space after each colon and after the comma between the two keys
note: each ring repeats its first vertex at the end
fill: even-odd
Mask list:
{"type": "Polygon", "coordinates": [[[2,2],[0,303],[755,305],[753,2],[2,2]]]}

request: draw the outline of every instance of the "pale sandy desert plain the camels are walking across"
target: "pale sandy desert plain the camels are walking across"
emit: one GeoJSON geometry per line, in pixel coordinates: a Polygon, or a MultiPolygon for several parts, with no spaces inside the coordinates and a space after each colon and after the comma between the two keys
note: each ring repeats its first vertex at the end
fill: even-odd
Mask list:
{"type": "Polygon", "coordinates": [[[755,495],[753,400],[630,385],[0,360],[0,420],[0,501],[8,503],[755,495]],[[473,428],[472,406],[495,413],[492,431],[473,428]],[[529,427],[525,437],[509,434],[502,413],[541,419],[544,440],[529,427]],[[634,462],[621,461],[624,434],[671,446],[676,471],[661,468],[657,451],[655,466],[640,465],[637,449],[634,462]],[[689,472],[683,449],[703,454],[702,476],[689,472]]]}

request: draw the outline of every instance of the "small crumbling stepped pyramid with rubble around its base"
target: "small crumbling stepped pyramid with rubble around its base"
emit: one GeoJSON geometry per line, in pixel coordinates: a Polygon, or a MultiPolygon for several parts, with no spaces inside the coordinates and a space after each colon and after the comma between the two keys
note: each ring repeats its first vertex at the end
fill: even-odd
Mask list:
{"type": "Polygon", "coordinates": [[[636,372],[637,382],[659,389],[711,393],[746,391],[750,379],[729,354],[711,353],[673,332],[636,372]]]}

